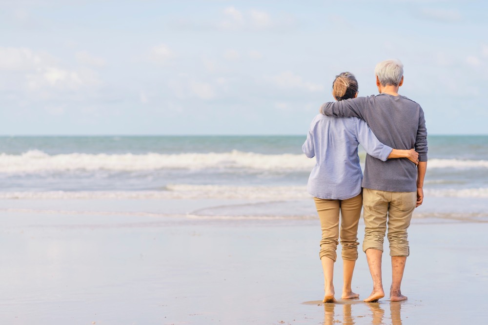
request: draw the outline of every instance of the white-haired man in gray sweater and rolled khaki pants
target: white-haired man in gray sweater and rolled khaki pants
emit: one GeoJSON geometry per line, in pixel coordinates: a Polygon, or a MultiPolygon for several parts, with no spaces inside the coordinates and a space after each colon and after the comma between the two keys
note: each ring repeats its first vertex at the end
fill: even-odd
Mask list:
{"type": "Polygon", "coordinates": [[[329,116],[356,116],[364,119],[378,140],[397,149],[419,153],[415,167],[408,159],[385,162],[366,156],[363,179],[365,239],[363,250],[373,279],[373,291],[365,302],[385,296],[381,279],[383,241],[388,226],[391,256],[391,301],[407,300],[401,284],[409,255],[407,228],[413,210],[424,200],[424,177],[427,169],[427,129],[424,111],[416,102],[398,94],[403,85],[403,64],[390,59],[376,65],[376,85],[380,95],[329,102],[320,112],[329,116]]]}

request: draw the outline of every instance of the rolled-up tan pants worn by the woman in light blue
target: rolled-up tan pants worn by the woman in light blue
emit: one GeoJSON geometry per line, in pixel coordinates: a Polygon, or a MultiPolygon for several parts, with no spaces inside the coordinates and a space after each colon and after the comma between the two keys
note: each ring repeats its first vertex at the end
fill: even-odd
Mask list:
{"type": "Polygon", "coordinates": [[[337,244],[341,235],[342,258],[355,261],[358,259],[358,223],[363,208],[363,195],[359,194],[347,200],[319,199],[314,197],[322,228],[319,257],[327,256],[335,262],[337,244]],[[339,231],[339,210],[341,212],[341,230],[339,231]]]}

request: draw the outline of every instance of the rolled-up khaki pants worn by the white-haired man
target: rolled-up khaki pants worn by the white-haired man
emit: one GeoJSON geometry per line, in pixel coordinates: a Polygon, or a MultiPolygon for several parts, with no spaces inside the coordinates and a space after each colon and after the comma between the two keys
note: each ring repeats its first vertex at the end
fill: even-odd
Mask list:
{"type": "Polygon", "coordinates": [[[383,251],[386,224],[390,256],[408,256],[407,229],[417,201],[416,192],[363,190],[365,240],[363,250],[383,251]]]}

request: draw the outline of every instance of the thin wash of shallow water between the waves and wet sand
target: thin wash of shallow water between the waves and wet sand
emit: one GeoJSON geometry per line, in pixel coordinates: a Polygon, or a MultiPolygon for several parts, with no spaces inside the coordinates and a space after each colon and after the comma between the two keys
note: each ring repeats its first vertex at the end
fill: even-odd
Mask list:
{"type": "MultiPolygon", "coordinates": [[[[412,224],[488,223],[483,198],[427,197],[417,208],[412,224]],[[469,206],[469,210],[465,209],[469,206]]],[[[0,213],[79,214],[153,217],[202,221],[288,221],[296,224],[318,221],[311,198],[267,199],[0,199],[0,213]]],[[[361,217],[362,220],[362,217],[361,217]]]]}

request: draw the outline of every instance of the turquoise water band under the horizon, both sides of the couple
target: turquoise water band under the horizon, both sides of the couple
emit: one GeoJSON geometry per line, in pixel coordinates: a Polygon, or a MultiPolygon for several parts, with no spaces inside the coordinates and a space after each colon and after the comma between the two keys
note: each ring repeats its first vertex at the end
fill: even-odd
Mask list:
{"type": "MultiPolygon", "coordinates": [[[[305,135],[289,136],[0,136],[0,153],[302,153],[305,135]]],[[[488,160],[488,135],[431,135],[429,157],[488,160]]]]}

